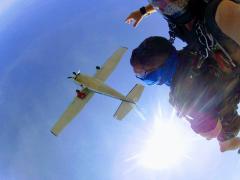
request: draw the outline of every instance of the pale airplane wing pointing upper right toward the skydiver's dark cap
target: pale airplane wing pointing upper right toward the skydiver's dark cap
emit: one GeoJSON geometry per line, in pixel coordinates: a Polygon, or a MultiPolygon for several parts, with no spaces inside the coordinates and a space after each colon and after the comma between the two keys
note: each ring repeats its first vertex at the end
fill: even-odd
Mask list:
{"type": "Polygon", "coordinates": [[[99,80],[105,81],[113,72],[124,53],[127,51],[126,47],[121,47],[106,61],[106,63],[97,71],[95,77],[99,80]]]}

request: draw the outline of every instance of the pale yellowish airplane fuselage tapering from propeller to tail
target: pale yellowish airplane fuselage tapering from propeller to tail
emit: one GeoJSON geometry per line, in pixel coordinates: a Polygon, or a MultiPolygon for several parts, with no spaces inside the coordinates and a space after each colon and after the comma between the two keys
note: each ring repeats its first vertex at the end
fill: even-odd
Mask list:
{"type": "Polygon", "coordinates": [[[129,103],[133,103],[135,104],[134,101],[132,101],[131,99],[126,98],[123,94],[119,93],[118,91],[116,91],[115,89],[111,88],[110,86],[106,85],[104,82],[102,82],[101,80],[88,76],[88,75],[84,75],[84,74],[78,74],[74,80],[80,84],[83,85],[84,87],[87,87],[88,89],[99,93],[99,94],[104,94],[125,102],[129,102],[129,103]]]}

